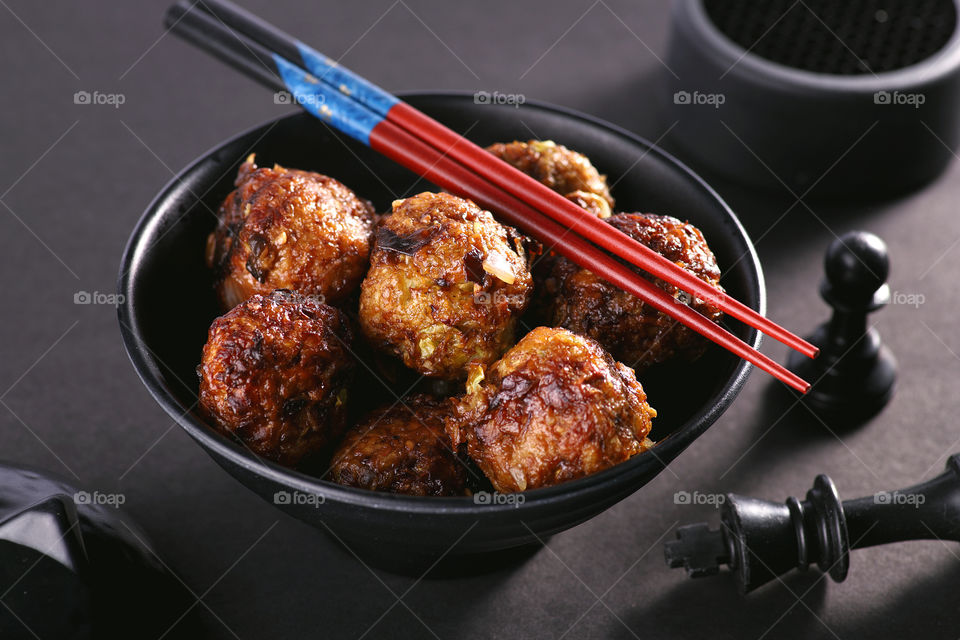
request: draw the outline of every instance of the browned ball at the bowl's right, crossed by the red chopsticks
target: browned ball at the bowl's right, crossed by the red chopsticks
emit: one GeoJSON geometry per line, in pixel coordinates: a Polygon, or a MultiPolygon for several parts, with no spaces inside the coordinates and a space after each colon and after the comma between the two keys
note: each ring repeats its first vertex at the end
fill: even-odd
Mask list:
{"type": "MultiPolygon", "coordinates": [[[[710,283],[718,291],[720,269],[700,230],[670,216],[618,213],[607,223],[665,256],[677,266],[710,283]]],[[[680,357],[703,355],[706,338],[639,298],[615,287],[563,257],[545,261],[538,307],[546,324],[566,327],[599,342],[614,358],[637,371],[680,357]]],[[[653,280],[675,299],[690,304],[713,322],[723,312],[700,298],[653,280]]]]}

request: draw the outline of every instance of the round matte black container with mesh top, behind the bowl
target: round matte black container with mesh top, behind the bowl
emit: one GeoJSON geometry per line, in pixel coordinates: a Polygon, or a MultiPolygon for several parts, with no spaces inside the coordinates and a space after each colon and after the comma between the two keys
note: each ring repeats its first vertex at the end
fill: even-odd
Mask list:
{"type": "Polygon", "coordinates": [[[960,142],[960,0],[676,0],[671,142],[733,180],[875,199],[960,142]]]}

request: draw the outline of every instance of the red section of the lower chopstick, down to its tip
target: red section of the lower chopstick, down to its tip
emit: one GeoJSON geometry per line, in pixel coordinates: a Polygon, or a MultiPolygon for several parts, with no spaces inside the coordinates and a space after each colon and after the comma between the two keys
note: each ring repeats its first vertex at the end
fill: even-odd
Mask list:
{"type": "MultiPolygon", "coordinates": [[[[384,120],[373,128],[370,134],[370,147],[434,184],[471,198],[486,209],[496,211],[508,224],[552,244],[557,253],[643,299],[658,311],[676,318],[793,389],[806,393],[810,388],[807,381],[753,349],[692,308],[677,302],[665,291],[638,276],[629,267],[610,257],[584,238],[575,233],[569,233],[556,221],[473,173],[469,168],[460,165],[451,157],[389,120],[384,120]]],[[[489,154],[486,155],[489,156],[489,154]]]]}

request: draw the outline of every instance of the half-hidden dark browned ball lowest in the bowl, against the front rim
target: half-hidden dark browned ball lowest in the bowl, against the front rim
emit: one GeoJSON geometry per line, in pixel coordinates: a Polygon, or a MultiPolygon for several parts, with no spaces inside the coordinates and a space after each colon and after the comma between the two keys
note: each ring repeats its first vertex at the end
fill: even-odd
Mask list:
{"type": "Polygon", "coordinates": [[[333,455],[330,479],[412,496],[463,495],[466,469],[444,432],[450,412],[448,400],[428,395],[373,411],[347,432],[333,455]]]}

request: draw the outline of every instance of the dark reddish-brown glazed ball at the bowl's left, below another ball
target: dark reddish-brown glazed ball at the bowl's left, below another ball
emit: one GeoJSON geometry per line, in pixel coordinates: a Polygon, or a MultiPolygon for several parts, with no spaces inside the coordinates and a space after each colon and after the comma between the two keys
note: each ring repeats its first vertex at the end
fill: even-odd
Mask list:
{"type": "Polygon", "coordinates": [[[346,427],[351,338],[345,316],[313,298],[255,295],[210,326],[200,406],[257,455],[296,465],[346,427]]]}

